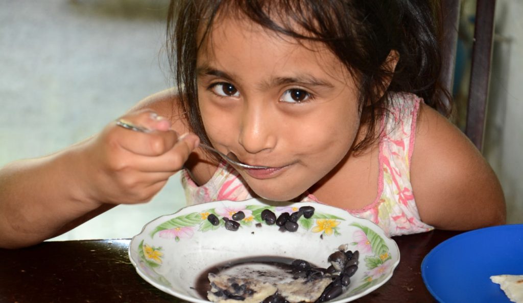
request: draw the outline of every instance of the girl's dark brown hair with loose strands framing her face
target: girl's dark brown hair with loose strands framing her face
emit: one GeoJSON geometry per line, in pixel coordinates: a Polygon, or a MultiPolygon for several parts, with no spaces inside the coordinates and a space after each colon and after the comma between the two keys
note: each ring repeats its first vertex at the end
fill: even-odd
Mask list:
{"type": "Polygon", "coordinates": [[[189,126],[209,143],[199,112],[196,65],[221,12],[240,14],[235,16],[298,41],[322,42],[339,58],[357,79],[361,125],[368,126],[354,151],[378,138],[379,117],[394,106],[392,92],[414,93],[448,115],[448,103],[439,99],[449,96],[438,82],[439,9],[439,2],[428,0],[172,0],[168,57],[189,126]],[[393,50],[399,60],[391,73],[386,60],[393,50]]]}

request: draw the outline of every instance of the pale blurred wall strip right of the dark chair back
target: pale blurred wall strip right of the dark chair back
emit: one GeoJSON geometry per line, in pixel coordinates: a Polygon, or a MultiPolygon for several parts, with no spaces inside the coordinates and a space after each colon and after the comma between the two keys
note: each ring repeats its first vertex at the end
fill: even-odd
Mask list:
{"type": "Polygon", "coordinates": [[[523,223],[523,1],[498,0],[484,154],[507,200],[509,223],[523,223]]]}

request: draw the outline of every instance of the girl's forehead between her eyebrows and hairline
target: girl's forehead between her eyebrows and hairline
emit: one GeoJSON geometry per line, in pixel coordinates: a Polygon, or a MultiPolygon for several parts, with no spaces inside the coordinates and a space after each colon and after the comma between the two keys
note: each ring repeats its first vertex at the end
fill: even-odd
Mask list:
{"type": "Polygon", "coordinates": [[[342,62],[322,42],[299,40],[246,17],[223,15],[217,16],[204,37],[197,61],[198,66],[226,68],[245,68],[248,63],[249,69],[259,72],[290,67],[321,69],[337,79],[347,74],[342,62]]]}

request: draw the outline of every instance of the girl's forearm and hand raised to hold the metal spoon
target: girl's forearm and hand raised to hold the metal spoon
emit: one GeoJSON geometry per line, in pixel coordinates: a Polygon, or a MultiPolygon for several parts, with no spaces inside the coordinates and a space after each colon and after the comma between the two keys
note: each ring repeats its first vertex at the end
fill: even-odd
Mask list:
{"type": "MultiPolygon", "coordinates": [[[[172,106],[154,106],[154,99],[143,104],[160,115],[172,114],[172,106]]],[[[115,205],[149,201],[183,167],[199,141],[194,135],[180,138],[180,124],[152,113],[141,109],[124,116],[153,129],[150,134],[112,122],[67,149],[0,169],[0,247],[37,244],[115,205]]]]}

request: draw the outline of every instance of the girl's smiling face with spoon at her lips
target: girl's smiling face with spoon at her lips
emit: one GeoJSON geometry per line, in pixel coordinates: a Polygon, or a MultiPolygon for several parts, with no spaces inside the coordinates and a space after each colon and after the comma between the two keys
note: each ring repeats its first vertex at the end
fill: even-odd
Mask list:
{"type": "Polygon", "coordinates": [[[347,159],[360,121],[357,90],[323,44],[224,18],[214,23],[197,67],[213,146],[271,167],[237,167],[257,195],[291,200],[347,159]]]}

